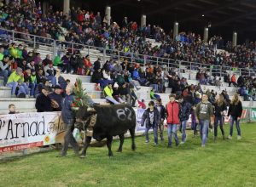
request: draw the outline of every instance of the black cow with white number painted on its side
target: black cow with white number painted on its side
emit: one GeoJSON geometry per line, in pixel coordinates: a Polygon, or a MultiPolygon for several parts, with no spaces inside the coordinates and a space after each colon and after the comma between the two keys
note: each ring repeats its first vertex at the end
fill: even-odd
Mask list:
{"type": "MultiPolygon", "coordinates": [[[[122,151],[127,130],[131,133],[131,149],[135,150],[136,114],[131,105],[95,105],[92,109],[87,106],[79,107],[79,111],[76,113],[75,127],[80,130],[87,129],[90,117],[94,114],[96,114],[96,124],[92,127],[92,137],[97,141],[107,138],[108,156],[113,156],[111,150],[113,136],[119,135],[120,144],[118,151],[122,151]]],[[[86,155],[90,140],[91,137],[86,136],[81,157],[86,155]]]]}

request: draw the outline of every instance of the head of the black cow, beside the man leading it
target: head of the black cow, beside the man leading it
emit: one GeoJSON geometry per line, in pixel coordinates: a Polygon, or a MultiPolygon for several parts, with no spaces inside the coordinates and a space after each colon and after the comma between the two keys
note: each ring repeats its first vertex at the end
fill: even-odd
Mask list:
{"type": "Polygon", "coordinates": [[[84,130],[87,128],[90,120],[90,115],[93,113],[94,109],[89,108],[86,105],[80,106],[79,110],[76,112],[76,122],[74,127],[84,130]]]}

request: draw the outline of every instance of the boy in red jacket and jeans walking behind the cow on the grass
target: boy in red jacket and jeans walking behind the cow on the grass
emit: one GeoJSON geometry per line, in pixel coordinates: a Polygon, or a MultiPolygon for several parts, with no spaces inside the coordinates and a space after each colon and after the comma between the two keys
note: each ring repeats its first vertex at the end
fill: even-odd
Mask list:
{"type": "Polygon", "coordinates": [[[174,135],[174,139],[176,142],[176,146],[178,145],[177,138],[177,125],[179,122],[179,104],[175,100],[176,95],[170,94],[169,99],[170,102],[166,105],[166,113],[167,113],[167,132],[168,132],[168,148],[172,147],[172,134],[174,135]]]}

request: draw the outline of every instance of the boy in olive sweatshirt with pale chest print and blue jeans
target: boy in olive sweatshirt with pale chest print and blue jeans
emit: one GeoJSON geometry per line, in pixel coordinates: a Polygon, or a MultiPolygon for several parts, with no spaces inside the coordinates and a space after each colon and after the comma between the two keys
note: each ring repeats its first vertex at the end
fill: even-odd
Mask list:
{"type": "Polygon", "coordinates": [[[203,94],[202,101],[195,108],[196,121],[200,124],[201,146],[207,143],[207,134],[212,116],[212,104],[208,101],[207,94],[203,94]]]}

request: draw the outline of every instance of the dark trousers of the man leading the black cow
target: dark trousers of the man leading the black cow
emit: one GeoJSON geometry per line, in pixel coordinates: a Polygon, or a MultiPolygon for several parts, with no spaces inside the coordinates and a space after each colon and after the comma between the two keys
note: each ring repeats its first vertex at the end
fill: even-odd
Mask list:
{"type": "Polygon", "coordinates": [[[76,154],[79,154],[79,144],[77,143],[76,139],[73,138],[73,121],[71,120],[69,124],[64,124],[66,127],[65,135],[64,135],[64,144],[61,150],[61,155],[67,155],[68,145],[71,144],[73,150],[76,154]]]}

